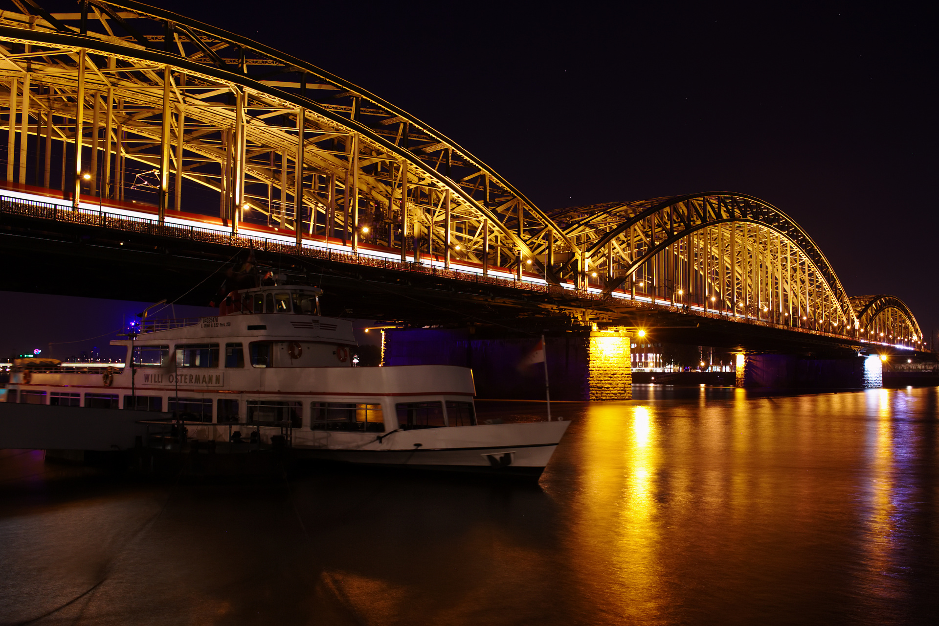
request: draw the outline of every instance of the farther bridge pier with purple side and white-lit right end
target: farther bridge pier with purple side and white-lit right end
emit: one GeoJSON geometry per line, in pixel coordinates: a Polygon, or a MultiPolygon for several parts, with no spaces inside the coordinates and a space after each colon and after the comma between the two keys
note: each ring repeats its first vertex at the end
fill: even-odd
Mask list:
{"type": "Polygon", "coordinates": [[[883,385],[880,357],[807,358],[796,354],[738,354],[737,386],[871,388],[883,385]]]}

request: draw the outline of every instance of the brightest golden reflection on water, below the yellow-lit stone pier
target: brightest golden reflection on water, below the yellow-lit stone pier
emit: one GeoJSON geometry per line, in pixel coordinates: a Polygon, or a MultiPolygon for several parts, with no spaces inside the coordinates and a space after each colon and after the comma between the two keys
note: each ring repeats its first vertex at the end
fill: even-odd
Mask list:
{"type": "Polygon", "coordinates": [[[577,569],[593,590],[585,600],[610,618],[651,623],[662,602],[654,409],[608,404],[589,411],[576,546],[577,569]]]}

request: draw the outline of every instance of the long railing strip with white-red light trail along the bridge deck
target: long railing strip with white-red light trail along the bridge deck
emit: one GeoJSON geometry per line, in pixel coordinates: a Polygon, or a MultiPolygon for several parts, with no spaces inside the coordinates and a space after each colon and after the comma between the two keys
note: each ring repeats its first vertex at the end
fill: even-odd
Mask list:
{"type": "MultiPolygon", "coordinates": [[[[115,214],[107,211],[98,211],[86,208],[73,210],[71,207],[27,198],[0,196],[0,213],[22,215],[24,217],[36,217],[41,219],[51,219],[87,226],[111,228],[125,232],[146,233],[148,235],[156,235],[202,243],[218,243],[221,245],[229,245],[239,248],[264,250],[266,252],[280,252],[289,255],[318,258],[327,261],[335,260],[352,265],[380,267],[383,269],[395,270],[399,272],[409,272],[413,274],[429,274],[432,276],[439,276],[440,278],[459,280],[478,285],[508,287],[516,290],[525,290],[537,293],[551,293],[553,295],[564,294],[573,301],[584,302],[585,305],[587,305],[589,302],[601,304],[610,300],[610,298],[601,297],[598,292],[594,293],[593,291],[589,290],[570,290],[559,287],[557,285],[547,285],[545,283],[518,279],[515,276],[513,276],[513,278],[502,278],[500,276],[493,276],[491,274],[485,275],[476,272],[461,271],[459,269],[453,268],[445,269],[437,266],[434,262],[423,263],[401,261],[388,258],[377,253],[370,253],[362,250],[353,253],[329,247],[312,247],[311,243],[304,243],[303,246],[298,248],[296,243],[283,243],[281,241],[272,240],[267,237],[261,237],[259,235],[234,235],[230,232],[223,232],[208,227],[197,227],[181,224],[161,224],[157,220],[147,219],[145,217],[115,214]]],[[[623,298],[616,298],[616,300],[621,299],[623,298]]],[[[629,305],[650,310],[682,310],[683,308],[682,305],[672,305],[670,303],[665,303],[665,301],[656,302],[657,300],[660,299],[653,297],[651,298],[650,302],[643,302],[639,299],[629,299],[629,305]]],[[[854,341],[859,340],[858,337],[855,337],[851,334],[839,332],[832,333],[830,331],[821,331],[802,326],[778,323],[775,321],[759,320],[754,319],[749,315],[734,315],[731,313],[731,311],[726,309],[705,309],[701,311],[685,310],[685,312],[691,315],[698,315],[700,317],[711,318],[715,320],[731,320],[738,323],[748,323],[755,326],[777,328],[781,330],[792,330],[815,336],[826,336],[839,339],[847,338],[854,339],[854,341]]],[[[151,325],[147,325],[146,330],[145,327],[142,326],[141,332],[151,333],[155,332],[156,330],[167,330],[169,328],[179,327],[167,325],[165,328],[158,328],[156,326],[158,322],[172,323],[172,321],[159,320],[150,322],[145,321],[145,323],[151,325]]],[[[182,325],[192,325],[194,323],[198,323],[198,318],[191,321],[191,323],[185,323],[182,325]]]]}

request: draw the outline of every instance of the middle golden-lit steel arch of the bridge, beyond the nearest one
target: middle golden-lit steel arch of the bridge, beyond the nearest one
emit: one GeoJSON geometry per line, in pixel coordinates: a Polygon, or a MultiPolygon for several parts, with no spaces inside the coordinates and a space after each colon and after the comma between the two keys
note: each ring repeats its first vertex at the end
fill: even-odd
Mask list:
{"type": "Polygon", "coordinates": [[[844,332],[850,299],[819,246],[792,218],[753,196],[711,192],[556,211],[605,292],[637,284],[672,302],[844,332]]]}

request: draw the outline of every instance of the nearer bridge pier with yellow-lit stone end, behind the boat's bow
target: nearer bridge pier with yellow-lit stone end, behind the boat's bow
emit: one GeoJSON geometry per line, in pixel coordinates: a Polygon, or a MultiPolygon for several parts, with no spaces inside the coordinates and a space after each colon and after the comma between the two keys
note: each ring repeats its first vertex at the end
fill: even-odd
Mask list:
{"type": "MultiPolygon", "coordinates": [[[[630,342],[622,328],[546,334],[551,399],[632,398],[630,342]]],[[[539,341],[488,329],[416,328],[384,333],[386,366],[472,368],[476,394],[486,399],[544,399],[545,369],[521,362],[539,341]]]]}

